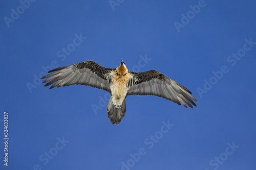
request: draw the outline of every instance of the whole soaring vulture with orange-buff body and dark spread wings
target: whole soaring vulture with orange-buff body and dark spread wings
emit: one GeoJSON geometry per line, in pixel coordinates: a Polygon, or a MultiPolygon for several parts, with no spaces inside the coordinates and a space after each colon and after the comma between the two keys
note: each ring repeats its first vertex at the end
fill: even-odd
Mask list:
{"type": "Polygon", "coordinates": [[[110,92],[111,98],[106,111],[111,123],[118,125],[126,112],[125,98],[128,95],[155,95],[173,101],[178,105],[186,104],[193,108],[197,100],[192,93],[156,70],[133,72],[126,68],[123,60],[117,68],[105,68],[94,61],[84,61],[48,71],[41,79],[45,86],[54,87],[80,84],[110,92]],[[193,100],[191,100],[193,99],[193,100]],[[192,105],[191,105],[192,104],[192,105]]]}

